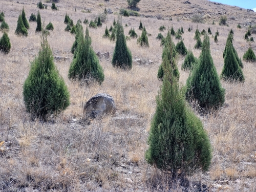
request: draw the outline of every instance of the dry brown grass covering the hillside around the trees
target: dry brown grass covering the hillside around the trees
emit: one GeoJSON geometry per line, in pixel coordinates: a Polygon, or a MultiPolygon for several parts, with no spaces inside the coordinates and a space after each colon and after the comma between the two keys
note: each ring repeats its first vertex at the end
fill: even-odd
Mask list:
{"type": "MultiPolygon", "coordinates": [[[[212,164],[208,172],[196,173],[188,177],[185,187],[172,181],[144,159],[147,148],[146,139],[150,130],[151,118],[155,111],[155,96],[160,81],[157,70],[161,63],[162,48],[156,39],[161,25],[177,31],[183,26],[184,44],[192,48],[196,57],[200,50],[193,49],[193,39],[197,24],[191,23],[188,6],[200,5],[202,14],[210,18],[204,24],[198,24],[200,31],[208,29],[214,34],[220,33],[219,42],[210,36],[211,56],[218,73],[221,73],[224,59],[222,53],[228,32],[234,31],[233,45],[239,57],[242,57],[249,45],[243,38],[248,22],[256,17],[255,13],[247,13],[237,7],[215,5],[208,1],[191,0],[191,4],[183,1],[146,1],[138,4],[140,13],[164,17],[172,16],[173,20],[158,20],[146,17],[123,17],[124,33],[135,28],[138,35],[139,22],[146,27],[149,48],[141,48],[136,39],[127,41],[133,58],[153,60],[151,65],[137,65],[134,62],[131,71],[124,72],[111,66],[109,60],[102,59],[100,65],[104,69],[105,80],[99,86],[90,88],[79,86],[68,79],[68,69],[72,60],[71,46],[74,35],[65,32],[63,24],[66,12],[76,23],[103,12],[104,7],[118,12],[117,7],[124,7],[126,1],[67,1],[60,0],[56,4],[58,11],[40,10],[41,18],[54,25],[48,37],[54,56],[69,57],[67,60],[55,61],[57,69],[65,79],[71,95],[71,104],[66,111],[54,119],[54,122],[31,121],[26,113],[23,101],[23,83],[28,76],[30,61],[34,59],[40,48],[40,35],[35,33],[36,23],[30,23],[28,37],[14,34],[16,22],[22,8],[26,16],[37,13],[33,1],[1,1],[0,11],[4,11],[5,19],[10,27],[8,33],[11,51],[8,55],[0,53],[0,190],[2,191],[256,191],[256,64],[244,63],[244,83],[222,81],[226,90],[226,101],[218,111],[207,116],[198,116],[204,123],[213,147],[212,164]],[[201,3],[202,2],[202,3],[201,3]],[[24,3],[24,4],[20,4],[24,3]],[[210,5],[210,6],[209,6],[210,5]],[[168,7],[169,6],[169,7],[168,7]],[[210,9],[208,7],[210,7],[210,9]],[[219,7],[217,7],[219,6],[219,7]],[[76,8],[76,12],[74,11],[76,8]],[[81,10],[91,9],[92,13],[81,10]],[[227,16],[234,15],[238,20],[230,20],[227,26],[218,25],[218,12],[227,16]],[[182,13],[182,14],[180,14],[182,13]],[[243,13],[243,14],[241,14],[243,13]],[[175,16],[175,14],[180,14],[175,16]],[[211,25],[215,19],[217,25],[211,25]],[[248,19],[248,20],[246,20],[248,19]],[[237,24],[243,24],[237,29],[237,24]],[[131,25],[131,26],[130,26],[131,25]],[[187,32],[193,27],[191,32],[187,32]],[[117,114],[94,120],[90,125],[80,123],[83,104],[97,93],[108,93],[113,96],[117,105],[117,114]],[[1,144],[0,144],[1,145],[1,144]]],[[[43,2],[45,3],[45,2],[43,2]]],[[[199,7],[191,8],[194,11],[199,7]]],[[[192,13],[193,11],[191,11],[192,13]]],[[[195,12],[196,13],[196,12],[195,12]]],[[[105,26],[110,27],[116,14],[109,14],[101,28],[89,29],[92,46],[95,52],[113,54],[115,44],[103,39],[105,26]]],[[[83,28],[86,26],[83,24],[83,28]]],[[[166,34],[166,30],[163,33],[166,34]]],[[[2,36],[2,33],[1,33],[2,36]]],[[[256,39],[255,34],[252,34],[256,39]]],[[[175,44],[177,40],[174,39],[175,44]]],[[[255,42],[251,43],[255,53],[255,42]]],[[[185,84],[188,71],[181,70],[184,58],[179,58],[180,82],[185,84]]]]}

